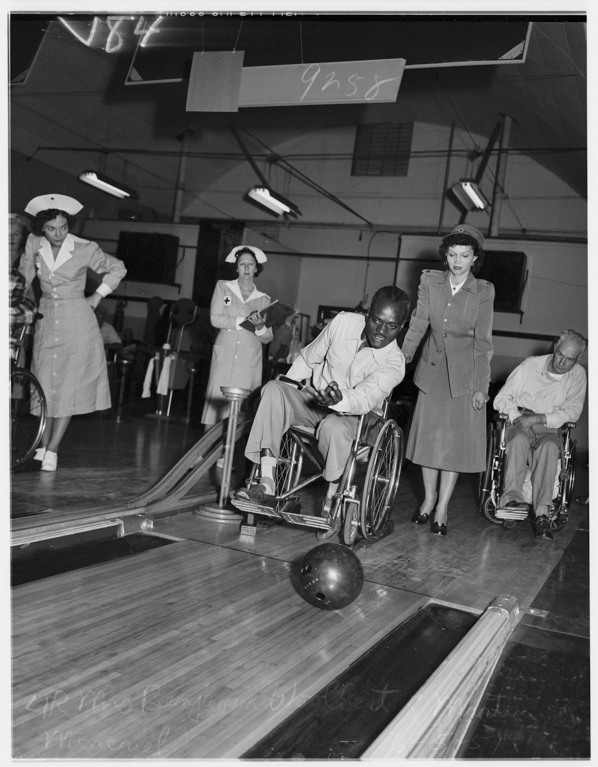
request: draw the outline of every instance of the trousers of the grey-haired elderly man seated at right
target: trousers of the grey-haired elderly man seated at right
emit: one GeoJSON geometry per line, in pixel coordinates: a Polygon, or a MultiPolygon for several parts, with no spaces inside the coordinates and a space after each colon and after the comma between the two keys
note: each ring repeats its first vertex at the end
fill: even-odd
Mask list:
{"type": "Polygon", "coordinates": [[[527,466],[531,470],[531,491],[534,509],[551,506],[554,478],[557,476],[560,443],[557,429],[540,423],[533,427],[536,439],[530,442],[527,434],[508,424],[505,434],[507,468],[504,471],[504,490],[501,504],[508,501],[523,502],[523,485],[527,466]]]}

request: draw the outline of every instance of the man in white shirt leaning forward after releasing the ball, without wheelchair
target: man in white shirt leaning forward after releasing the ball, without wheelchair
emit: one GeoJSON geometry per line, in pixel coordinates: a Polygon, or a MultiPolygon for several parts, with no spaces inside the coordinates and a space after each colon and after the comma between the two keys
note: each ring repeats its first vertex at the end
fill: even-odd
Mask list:
{"type": "MultiPolygon", "coordinates": [[[[294,387],[271,380],[261,390],[261,401],[249,433],[245,456],[260,463],[258,485],[235,492],[237,499],[274,504],[274,469],[283,434],[289,426],[316,429],[318,448],[325,459],[329,483],[322,506],[327,518],[334,505],[343,469],[357,431],[358,417],[379,409],[385,397],[403,380],[405,360],[396,337],[409,314],[406,293],[393,285],[372,298],[367,318],[340,312],[306,347],[288,370],[294,387]]],[[[337,528],[320,539],[332,537],[337,528]]]]}

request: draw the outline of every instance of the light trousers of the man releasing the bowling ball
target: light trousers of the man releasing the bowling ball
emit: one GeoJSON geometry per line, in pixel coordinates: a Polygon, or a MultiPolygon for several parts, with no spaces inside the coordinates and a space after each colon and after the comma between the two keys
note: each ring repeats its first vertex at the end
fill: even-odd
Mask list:
{"type": "Polygon", "coordinates": [[[316,429],[318,449],[326,461],[324,479],[336,482],[349,458],[358,423],[359,416],[345,416],[321,407],[313,393],[271,380],[261,390],[245,456],[259,463],[260,451],[269,449],[274,458],[279,458],[282,436],[289,426],[312,426],[316,429]]]}

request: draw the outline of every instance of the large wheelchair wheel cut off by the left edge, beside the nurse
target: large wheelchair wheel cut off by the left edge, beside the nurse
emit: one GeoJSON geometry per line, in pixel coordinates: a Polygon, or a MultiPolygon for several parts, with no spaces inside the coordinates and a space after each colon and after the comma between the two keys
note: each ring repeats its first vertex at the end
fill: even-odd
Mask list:
{"type": "Polygon", "coordinates": [[[30,370],[11,371],[11,469],[31,458],[46,426],[46,398],[30,370]]]}

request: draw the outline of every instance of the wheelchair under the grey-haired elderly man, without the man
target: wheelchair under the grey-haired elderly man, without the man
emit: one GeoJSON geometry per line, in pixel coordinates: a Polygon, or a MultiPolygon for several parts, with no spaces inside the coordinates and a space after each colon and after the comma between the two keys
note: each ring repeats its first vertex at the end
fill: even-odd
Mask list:
{"type": "MultiPolygon", "coordinates": [[[[505,434],[508,425],[508,417],[497,413],[494,421],[488,423],[486,440],[486,469],[480,473],[478,485],[478,512],[484,515],[488,522],[501,525],[503,522],[513,520],[518,522],[530,514],[530,506],[527,502],[522,504],[521,509],[501,508],[501,493],[504,488],[504,469],[507,461],[505,446],[505,434]],[[525,508],[524,508],[525,507],[525,508]]],[[[554,479],[553,505],[548,512],[550,530],[557,532],[562,530],[569,521],[569,506],[573,499],[573,485],[575,483],[575,466],[577,461],[577,448],[575,440],[571,439],[571,430],[575,423],[563,423],[559,430],[560,441],[560,466],[554,479]]],[[[524,497],[530,499],[531,486],[524,482],[524,497]],[[527,485],[527,492],[526,492],[527,485]]]]}

